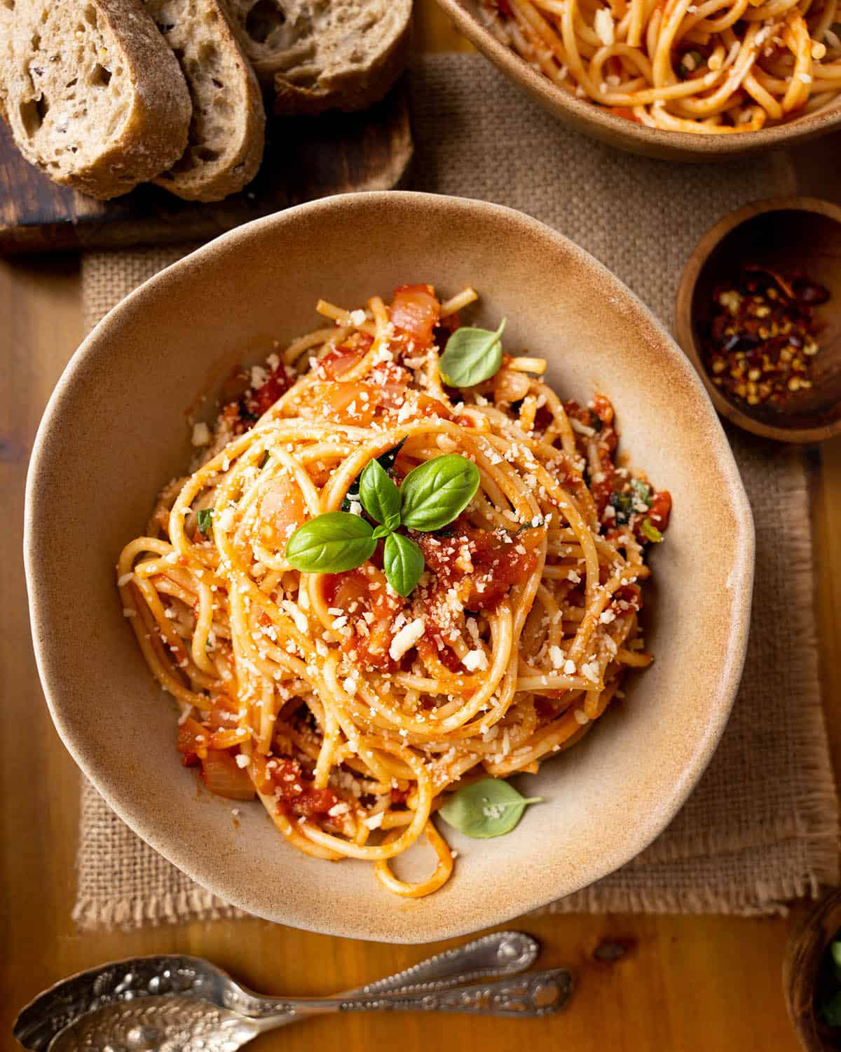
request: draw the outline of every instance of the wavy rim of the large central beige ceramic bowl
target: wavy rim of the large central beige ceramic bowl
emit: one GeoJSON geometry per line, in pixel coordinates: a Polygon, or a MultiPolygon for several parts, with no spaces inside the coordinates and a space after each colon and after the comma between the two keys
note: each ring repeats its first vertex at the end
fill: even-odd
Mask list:
{"type": "MultiPolygon", "coordinates": [[[[77,765],[93,783],[108,806],[129,828],[156,851],[163,854],[164,857],[194,879],[202,888],[213,892],[219,897],[233,906],[240,907],[246,912],[263,916],[266,919],[309,931],[351,938],[387,940],[392,943],[424,943],[468,934],[538,909],[559,896],[572,894],[574,891],[580,890],[580,888],[600,879],[608,873],[614,872],[620,866],[635,857],[640,851],[644,850],[669,825],[689,797],[710,763],[730,717],[741,680],[746,653],[753,595],[754,557],[755,534],[753,513],[733,456],[733,450],[721,428],[720,421],[715,414],[703,385],[685,356],[681,352],[664,326],[641,302],[636,294],[580,246],[531,216],[486,201],[409,190],[371,190],[337,195],[307,202],[271,216],[262,217],[251,223],[244,224],[221,235],[145,281],[105,315],[90,330],[70,358],[49,398],[39,425],[26,479],[24,567],[29,598],[29,614],[36,663],[53,722],[64,746],[77,765]],[[107,347],[109,338],[119,329],[120,319],[124,313],[140,310],[143,308],[145,301],[150,298],[152,300],[157,299],[160,295],[160,288],[162,286],[166,287],[172,275],[190,270],[197,267],[197,265],[201,267],[204,262],[213,257],[224,256],[231,249],[235,250],[237,243],[241,240],[247,240],[252,235],[262,232],[270,227],[282,227],[289,219],[299,219],[300,217],[331,211],[336,208],[354,208],[356,205],[365,207],[368,202],[374,204],[383,202],[397,203],[402,200],[423,205],[427,208],[445,207],[458,209],[463,214],[471,215],[477,221],[481,221],[489,215],[493,215],[497,219],[507,221],[509,225],[514,224],[515,227],[518,226],[524,234],[536,235],[542,239],[555,242],[566,252],[576,257],[592,274],[597,275],[608,285],[612,294],[624,301],[630,308],[629,324],[636,322],[643,328],[648,328],[649,332],[661,344],[663,351],[671,357],[673,366],[683,372],[686,381],[695,387],[700,400],[699,409],[709,411],[710,426],[713,432],[717,433],[719,440],[715,460],[727,484],[727,494],[735,522],[733,533],[734,554],[731,570],[733,581],[731,606],[733,615],[726,636],[726,653],[722,659],[721,672],[716,689],[716,703],[709,712],[703,731],[698,734],[694,742],[691,760],[682,768],[680,776],[675,777],[674,784],[671,786],[670,791],[664,794],[664,797],[657,802],[657,806],[652,806],[649,812],[642,815],[639,822],[635,824],[633,836],[629,838],[628,843],[621,845],[619,849],[613,847],[601,852],[599,861],[593,863],[582,874],[579,874],[580,879],[576,876],[577,883],[575,887],[560,887],[555,889],[543,887],[542,890],[531,891],[530,886],[524,886],[524,893],[516,898],[516,903],[512,898],[509,899],[511,905],[499,907],[495,912],[488,909],[487,916],[478,925],[470,918],[461,918],[460,920],[451,920],[448,923],[439,920],[423,922],[425,924],[423,932],[416,932],[412,930],[411,923],[407,923],[405,927],[399,926],[396,931],[393,928],[389,929],[388,933],[384,934],[384,932],[372,931],[370,926],[362,928],[350,916],[325,916],[324,911],[322,911],[322,914],[315,918],[311,913],[305,913],[298,906],[295,906],[293,912],[281,916],[276,911],[271,912],[266,906],[261,906],[247,897],[240,887],[231,887],[228,882],[216,879],[213,876],[208,878],[208,874],[200,866],[196,865],[193,856],[189,854],[188,850],[177,838],[167,838],[165,833],[163,835],[159,833],[157,822],[149,818],[145,806],[139,805],[130,793],[121,794],[118,784],[111,785],[109,783],[107,771],[104,770],[102,763],[85,754],[84,742],[77,741],[74,733],[73,720],[65,719],[65,713],[62,710],[62,680],[55,669],[55,663],[49,660],[48,648],[43,642],[46,634],[44,629],[48,626],[49,622],[50,604],[45,594],[42,594],[42,589],[39,587],[41,574],[37,558],[36,533],[37,521],[41,510],[41,501],[38,493],[41,461],[47,456],[50,432],[56,428],[62,416],[61,403],[64,390],[70,386],[74,375],[82,367],[85,359],[89,355],[102,353],[102,350],[98,351],[98,348],[107,347]]],[[[46,589],[44,589],[45,591],[46,589]]],[[[407,917],[406,920],[408,922],[408,919],[407,917]]]]}

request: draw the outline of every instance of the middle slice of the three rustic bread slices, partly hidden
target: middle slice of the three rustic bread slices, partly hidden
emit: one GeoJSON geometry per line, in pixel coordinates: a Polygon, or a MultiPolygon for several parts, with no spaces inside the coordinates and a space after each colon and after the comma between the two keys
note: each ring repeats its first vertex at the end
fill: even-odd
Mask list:
{"type": "Polygon", "coordinates": [[[187,148],[155,182],[188,201],[221,201],[249,183],[263,159],[266,114],[257,77],[217,0],[145,4],[192,99],[187,148]]]}

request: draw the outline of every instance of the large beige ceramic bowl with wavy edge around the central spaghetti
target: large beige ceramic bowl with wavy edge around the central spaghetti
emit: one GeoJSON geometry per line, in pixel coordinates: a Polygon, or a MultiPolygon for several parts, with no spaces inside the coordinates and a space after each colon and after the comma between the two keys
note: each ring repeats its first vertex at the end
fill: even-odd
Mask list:
{"type": "MultiPolygon", "coordinates": [[[[205,403],[208,418],[211,404],[205,403]]],[[[754,535],[736,464],[700,380],[645,307],[587,252],[496,205],[423,194],[328,198],[242,226],[152,278],[67,366],[28,479],[26,572],[41,679],[59,733],[153,848],[243,909],[301,928],[398,943],[497,924],[603,876],[666,825],[704,769],[744,658],[754,535]],[[290,848],[259,804],[197,795],[176,711],[152,682],[115,589],[115,563],[162,483],[190,459],[185,410],[234,362],[312,328],[319,297],[355,306],[404,282],[481,291],[506,344],[545,355],[565,396],[602,391],[622,448],[675,511],[654,553],[637,676],[577,748],[522,780],[543,795],[505,839],[447,830],[459,857],[427,898],[385,891],[365,863],[290,848]]]]}

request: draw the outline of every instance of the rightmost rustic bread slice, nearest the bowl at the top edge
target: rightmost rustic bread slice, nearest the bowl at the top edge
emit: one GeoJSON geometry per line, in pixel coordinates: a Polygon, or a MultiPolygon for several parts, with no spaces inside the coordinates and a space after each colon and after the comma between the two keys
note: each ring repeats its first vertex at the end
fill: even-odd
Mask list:
{"type": "Polygon", "coordinates": [[[364,109],[406,64],[411,0],[224,0],[279,114],[364,109]]]}

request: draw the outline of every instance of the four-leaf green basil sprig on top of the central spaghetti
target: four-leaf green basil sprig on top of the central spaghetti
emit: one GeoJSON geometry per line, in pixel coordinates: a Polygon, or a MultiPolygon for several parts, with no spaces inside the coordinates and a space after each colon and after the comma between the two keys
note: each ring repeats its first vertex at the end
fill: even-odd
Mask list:
{"type": "Polygon", "coordinates": [[[328,511],[292,533],[286,559],[305,573],[342,573],[362,566],[374,553],[376,542],[385,538],[386,580],[395,592],[407,596],[424,572],[424,554],[411,538],[397,533],[397,528],[408,526],[422,532],[440,529],[465,510],[478,487],[476,465],[455,453],[418,464],[399,489],[382,458],[372,460],[360,476],[360,502],[378,525],[347,511],[328,511]]]}

